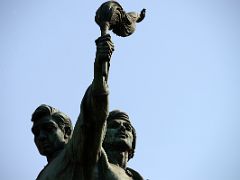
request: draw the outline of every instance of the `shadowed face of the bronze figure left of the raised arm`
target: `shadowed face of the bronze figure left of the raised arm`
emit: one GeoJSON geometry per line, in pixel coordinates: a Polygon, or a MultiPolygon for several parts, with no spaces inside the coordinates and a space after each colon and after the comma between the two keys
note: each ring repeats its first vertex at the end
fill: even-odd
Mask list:
{"type": "Polygon", "coordinates": [[[67,137],[51,116],[45,116],[33,123],[34,142],[41,155],[49,156],[64,148],[67,137]]]}

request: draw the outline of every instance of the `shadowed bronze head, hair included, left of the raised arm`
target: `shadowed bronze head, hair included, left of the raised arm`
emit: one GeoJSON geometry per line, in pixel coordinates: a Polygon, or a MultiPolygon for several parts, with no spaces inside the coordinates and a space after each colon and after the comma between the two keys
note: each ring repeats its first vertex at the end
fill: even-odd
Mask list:
{"type": "Polygon", "coordinates": [[[62,150],[72,135],[70,118],[61,111],[42,104],[32,114],[34,142],[41,155],[50,157],[62,150]]]}

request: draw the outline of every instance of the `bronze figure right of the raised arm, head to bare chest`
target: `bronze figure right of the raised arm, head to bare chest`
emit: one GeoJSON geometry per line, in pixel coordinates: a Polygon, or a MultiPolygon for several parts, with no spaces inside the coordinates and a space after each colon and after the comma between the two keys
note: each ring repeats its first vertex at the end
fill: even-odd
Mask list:
{"type": "Polygon", "coordinates": [[[111,179],[117,171],[120,179],[143,180],[135,170],[127,167],[127,162],[133,158],[136,147],[136,131],[127,113],[119,110],[111,111],[107,118],[107,131],[103,142],[101,162],[103,170],[101,179],[111,179]],[[105,172],[105,173],[104,173],[105,172]]]}

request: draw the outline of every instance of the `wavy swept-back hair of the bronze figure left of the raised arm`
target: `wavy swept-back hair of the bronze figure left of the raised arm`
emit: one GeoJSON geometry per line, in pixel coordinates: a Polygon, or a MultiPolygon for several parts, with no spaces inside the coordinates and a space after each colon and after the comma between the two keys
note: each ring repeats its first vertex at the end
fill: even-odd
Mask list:
{"type": "Polygon", "coordinates": [[[51,116],[52,119],[58,124],[58,126],[61,128],[62,131],[64,129],[67,129],[69,132],[67,132],[70,136],[72,135],[73,127],[71,119],[64,114],[63,112],[59,111],[58,109],[42,104],[40,105],[32,114],[32,122],[37,122],[41,118],[45,116],[51,116]],[[67,128],[65,128],[67,127],[67,128]]]}

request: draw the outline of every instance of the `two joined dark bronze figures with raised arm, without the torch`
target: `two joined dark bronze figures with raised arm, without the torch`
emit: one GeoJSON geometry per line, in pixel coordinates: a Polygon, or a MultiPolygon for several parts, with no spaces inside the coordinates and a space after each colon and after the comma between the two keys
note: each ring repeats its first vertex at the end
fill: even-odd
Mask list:
{"type": "Polygon", "coordinates": [[[51,106],[41,105],[32,115],[34,142],[48,161],[37,180],[143,179],[127,167],[136,145],[128,115],[108,110],[108,71],[104,74],[102,66],[109,69],[114,51],[111,36],[102,33],[95,42],[94,78],[82,99],[74,130],[70,118],[51,106]]]}

